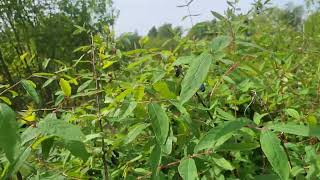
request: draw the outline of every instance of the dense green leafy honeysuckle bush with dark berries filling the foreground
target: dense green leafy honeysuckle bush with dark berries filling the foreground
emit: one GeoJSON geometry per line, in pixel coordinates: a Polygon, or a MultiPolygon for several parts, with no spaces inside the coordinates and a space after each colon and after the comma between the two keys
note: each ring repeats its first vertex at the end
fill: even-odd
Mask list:
{"type": "Polygon", "coordinates": [[[79,59],[1,86],[0,177],[318,179],[317,40],[269,10],[212,14],[214,35],[169,50],[78,27],[79,59]]]}

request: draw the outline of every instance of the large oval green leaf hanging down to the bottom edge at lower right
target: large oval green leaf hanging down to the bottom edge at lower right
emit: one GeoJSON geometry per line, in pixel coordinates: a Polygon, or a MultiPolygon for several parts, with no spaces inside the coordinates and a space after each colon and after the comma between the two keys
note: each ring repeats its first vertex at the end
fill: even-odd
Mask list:
{"type": "Polygon", "coordinates": [[[282,180],[289,179],[288,158],[278,137],[269,130],[263,131],[260,136],[260,144],[273,170],[282,180]]]}

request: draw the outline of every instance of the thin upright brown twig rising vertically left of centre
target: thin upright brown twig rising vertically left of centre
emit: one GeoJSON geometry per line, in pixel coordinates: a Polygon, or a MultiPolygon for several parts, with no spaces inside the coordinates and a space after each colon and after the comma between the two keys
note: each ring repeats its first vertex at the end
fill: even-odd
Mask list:
{"type": "MultiPolygon", "coordinates": [[[[99,77],[96,69],[96,58],[95,58],[95,44],[93,40],[93,35],[91,34],[91,53],[92,53],[92,67],[93,67],[93,78],[96,83],[96,90],[99,91],[101,89],[100,83],[99,83],[99,77]]],[[[100,95],[96,94],[96,106],[97,106],[97,119],[99,123],[100,133],[104,134],[104,128],[103,128],[103,122],[102,122],[102,116],[101,116],[101,108],[100,108],[100,95]]],[[[101,144],[102,144],[102,162],[103,162],[103,168],[104,168],[104,179],[109,180],[109,171],[108,171],[108,162],[107,162],[107,150],[105,147],[104,142],[104,136],[101,137],[101,144]]]]}

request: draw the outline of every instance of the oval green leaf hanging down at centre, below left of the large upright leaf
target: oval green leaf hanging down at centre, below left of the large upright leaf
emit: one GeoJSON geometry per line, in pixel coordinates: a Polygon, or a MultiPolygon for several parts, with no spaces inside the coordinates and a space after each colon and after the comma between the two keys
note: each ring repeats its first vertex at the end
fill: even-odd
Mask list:
{"type": "Polygon", "coordinates": [[[169,133],[169,118],[159,104],[150,103],[148,112],[159,144],[165,144],[169,133]]]}

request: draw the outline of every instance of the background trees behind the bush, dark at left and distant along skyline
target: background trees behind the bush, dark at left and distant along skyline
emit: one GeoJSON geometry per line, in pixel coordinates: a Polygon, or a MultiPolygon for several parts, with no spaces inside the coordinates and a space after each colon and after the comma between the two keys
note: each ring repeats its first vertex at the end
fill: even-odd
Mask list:
{"type": "MultiPolygon", "coordinates": [[[[104,25],[114,25],[118,14],[112,2],[107,1],[4,0],[0,3],[0,78],[2,82],[10,84],[32,72],[42,72],[42,64],[48,59],[72,63],[79,57],[73,51],[90,41],[86,33],[77,32],[81,28],[95,33],[103,32],[104,25]]],[[[258,11],[255,13],[258,14],[258,11]]],[[[291,4],[286,9],[269,8],[266,14],[272,18],[256,16],[244,20],[246,27],[242,28],[247,36],[257,33],[254,32],[254,26],[258,25],[258,20],[263,22],[271,19],[297,32],[304,31],[309,38],[318,38],[317,11],[303,20],[306,15],[303,7],[291,4]]],[[[210,39],[219,34],[219,26],[215,19],[200,22],[186,36],[192,40],[210,39]]],[[[184,34],[182,27],[173,27],[171,24],[152,27],[145,48],[172,50],[184,34]]],[[[117,38],[116,46],[123,50],[141,48],[139,41],[142,38],[137,33],[124,33],[117,38]]],[[[50,68],[54,69],[53,66],[50,68]]]]}

